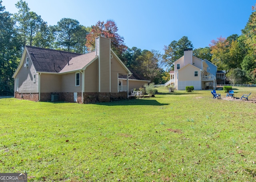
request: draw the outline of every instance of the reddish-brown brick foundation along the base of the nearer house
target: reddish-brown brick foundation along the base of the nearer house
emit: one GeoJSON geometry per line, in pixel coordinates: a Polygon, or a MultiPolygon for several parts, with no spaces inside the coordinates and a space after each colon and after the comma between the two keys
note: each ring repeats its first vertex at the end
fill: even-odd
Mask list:
{"type": "MultiPolygon", "coordinates": [[[[65,101],[69,103],[74,103],[74,93],[73,92],[65,92],[65,93],[57,93],[58,101],[65,101]]],[[[40,93],[40,101],[47,102],[51,101],[52,93],[40,93]]],[[[110,102],[110,101],[119,101],[127,98],[127,92],[119,92],[119,93],[100,93],[100,92],[84,92],[84,100],[82,101],[82,93],[77,93],[77,102],[76,103],[97,103],[97,102],[110,102]]],[[[25,99],[30,101],[38,101],[39,94],[38,93],[15,93],[15,98],[17,99],[25,99]]]]}

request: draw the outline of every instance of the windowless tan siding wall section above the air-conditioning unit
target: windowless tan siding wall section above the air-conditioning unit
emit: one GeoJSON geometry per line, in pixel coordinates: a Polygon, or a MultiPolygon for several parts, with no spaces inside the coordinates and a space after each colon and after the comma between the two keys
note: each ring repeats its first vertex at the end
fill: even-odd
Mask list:
{"type": "Polygon", "coordinates": [[[42,73],[40,80],[41,93],[61,92],[61,75],[42,73]]]}

